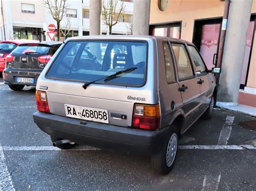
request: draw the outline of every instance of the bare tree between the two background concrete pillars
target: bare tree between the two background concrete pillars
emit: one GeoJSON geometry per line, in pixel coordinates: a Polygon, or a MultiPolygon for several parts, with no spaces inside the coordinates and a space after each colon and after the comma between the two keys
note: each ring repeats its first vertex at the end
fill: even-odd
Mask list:
{"type": "Polygon", "coordinates": [[[125,5],[123,1],[118,0],[107,0],[107,2],[103,2],[103,23],[109,27],[109,34],[112,34],[112,27],[119,23],[120,18],[124,18],[124,12],[125,12],[125,5]],[[119,3],[119,6],[118,5],[119,3]],[[115,16],[115,13],[117,13],[117,18],[114,21],[113,18],[115,16]]]}

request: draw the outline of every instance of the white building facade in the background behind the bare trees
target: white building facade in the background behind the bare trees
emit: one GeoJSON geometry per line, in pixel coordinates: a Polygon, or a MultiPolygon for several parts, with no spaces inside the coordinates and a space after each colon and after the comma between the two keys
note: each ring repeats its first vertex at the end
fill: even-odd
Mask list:
{"type": "MultiPolygon", "coordinates": [[[[60,26],[66,29],[70,21],[70,31],[66,37],[89,35],[90,0],[67,0],[69,9],[60,26]]],[[[107,1],[104,1],[105,3],[107,1]]],[[[118,6],[120,6],[118,2],[118,6]]],[[[123,1],[125,15],[119,23],[112,28],[113,34],[127,34],[129,23],[133,15],[133,0],[123,1]]],[[[45,8],[43,0],[1,0],[0,40],[39,38],[48,40],[44,34],[48,24],[56,24],[49,10],[45,8]]],[[[118,10],[116,10],[118,11],[118,10]]],[[[117,13],[116,13],[117,15],[117,13]]],[[[114,19],[117,19],[115,15],[114,19]]],[[[107,33],[107,27],[102,22],[102,33],[107,33]]]]}

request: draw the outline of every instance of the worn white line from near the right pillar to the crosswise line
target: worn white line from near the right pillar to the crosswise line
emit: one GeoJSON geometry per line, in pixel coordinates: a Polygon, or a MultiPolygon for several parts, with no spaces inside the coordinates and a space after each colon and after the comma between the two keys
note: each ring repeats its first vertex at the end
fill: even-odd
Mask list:
{"type": "Polygon", "coordinates": [[[220,131],[220,136],[217,145],[226,145],[228,139],[230,138],[230,133],[232,131],[232,124],[234,121],[234,116],[227,116],[225,124],[220,131]]]}

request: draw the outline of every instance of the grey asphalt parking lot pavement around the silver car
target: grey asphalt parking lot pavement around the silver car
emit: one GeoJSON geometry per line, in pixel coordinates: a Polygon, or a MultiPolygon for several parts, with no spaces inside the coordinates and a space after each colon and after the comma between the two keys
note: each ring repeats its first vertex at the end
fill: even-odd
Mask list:
{"type": "Polygon", "coordinates": [[[35,87],[12,91],[0,78],[0,190],[256,190],[256,118],[216,108],[180,138],[168,175],[150,157],[78,145],[52,147],[33,123],[35,87]]]}

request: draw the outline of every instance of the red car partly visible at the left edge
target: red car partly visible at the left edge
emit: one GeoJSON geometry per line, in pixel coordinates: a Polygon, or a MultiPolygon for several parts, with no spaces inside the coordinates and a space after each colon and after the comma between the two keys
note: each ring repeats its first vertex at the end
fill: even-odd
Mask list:
{"type": "Polygon", "coordinates": [[[5,57],[9,55],[19,44],[26,42],[28,42],[28,40],[3,40],[0,42],[0,73],[2,73],[5,68],[5,57]]]}

